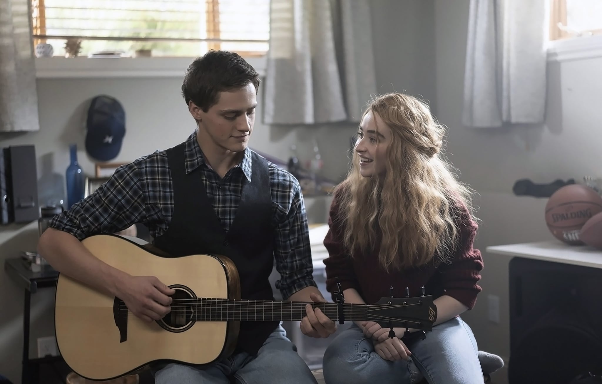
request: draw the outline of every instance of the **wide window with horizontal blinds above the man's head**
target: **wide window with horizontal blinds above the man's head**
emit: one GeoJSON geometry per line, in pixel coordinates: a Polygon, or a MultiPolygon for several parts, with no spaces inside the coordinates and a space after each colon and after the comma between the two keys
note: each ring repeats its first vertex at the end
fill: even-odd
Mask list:
{"type": "Polygon", "coordinates": [[[196,57],[209,49],[261,56],[270,0],[32,0],[33,40],[65,56],[196,57]],[[81,44],[81,45],[80,45],[81,44]]]}

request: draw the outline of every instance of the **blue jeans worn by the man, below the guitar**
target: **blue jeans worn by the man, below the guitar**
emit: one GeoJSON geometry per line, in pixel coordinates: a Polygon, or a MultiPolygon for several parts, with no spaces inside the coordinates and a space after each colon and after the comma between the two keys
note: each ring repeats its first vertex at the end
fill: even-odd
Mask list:
{"type": "Polygon", "coordinates": [[[231,379],[240,384],[317,384],[282,326],[265,340],[256,356],[236,353],[202,369],[169,364],[155,374],[155,384],[229,384],[231,379]]]}

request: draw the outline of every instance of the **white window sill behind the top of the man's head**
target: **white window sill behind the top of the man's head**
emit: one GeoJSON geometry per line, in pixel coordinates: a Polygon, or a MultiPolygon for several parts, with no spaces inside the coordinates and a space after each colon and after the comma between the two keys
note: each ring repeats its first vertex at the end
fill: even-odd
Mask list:
{"type": "MultiPolygon", "coordinates": [[[[39,79],[61,78],[181,78],[193,57],[140,58],[36,58],[36,76],[39,79]]],[[[246,60],[259,75],[265,75],[265,57],[246,60]]]]}

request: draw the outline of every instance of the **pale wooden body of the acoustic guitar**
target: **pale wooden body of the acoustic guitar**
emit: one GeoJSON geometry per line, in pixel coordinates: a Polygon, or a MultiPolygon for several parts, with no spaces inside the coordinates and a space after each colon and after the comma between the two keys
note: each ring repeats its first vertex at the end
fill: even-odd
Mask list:
{"type": "MultiPolygon", "coordinates": [[[[228,258],[212,255],[166,258],[114,235],[95,235],[82,240],[82,244],[97,258],[126,273],[157,276],[176,289],[175,297],[182,300],[240,298],[238,273],[228,258]]],[[[58,277],[55,298],[58,349],[79,376],[107,380],[155,361],[207,364],[234,349],[238,321],[190,321],[186,314],[179,314],[178,318],[178,311],[172,309],[166,316],[167,323],[147,323],[118,301],[64,274],[58,277]]]]}

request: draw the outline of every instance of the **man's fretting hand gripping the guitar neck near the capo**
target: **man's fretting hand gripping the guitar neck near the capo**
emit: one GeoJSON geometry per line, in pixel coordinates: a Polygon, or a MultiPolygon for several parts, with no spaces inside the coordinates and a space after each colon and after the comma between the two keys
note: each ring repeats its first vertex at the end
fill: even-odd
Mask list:
{"type": "MultiPolygon", "coordinates": [[[[297,291],[288,300],[293,302],[326,303],[326,299],[315,286],[308,286],[297,291]],[[309,300],[308,300],[309,299],[309,300]]],[[[320,308],[313,309],[311,304],[305,306],[306,316],[301,320],[300,329],[304,335],[313,338],[327,338],[337,332],[337,323],[330,320],[320,308]]]]}

